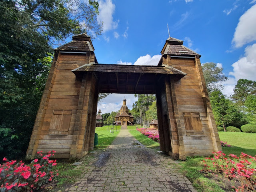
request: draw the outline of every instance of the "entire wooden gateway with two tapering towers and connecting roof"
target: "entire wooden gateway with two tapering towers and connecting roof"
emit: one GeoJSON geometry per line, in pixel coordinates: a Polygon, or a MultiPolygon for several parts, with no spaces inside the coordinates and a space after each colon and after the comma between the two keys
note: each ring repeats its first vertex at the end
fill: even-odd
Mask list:
{"type": "MultiPolygon", "coordinates": [[[[173,158],[222,150],[200,55],[168,38],[158,66],[98,64],[90,37],[55,50],[27,150],[76,159],[94,147],[98,94],[156,94],[160,149],[173,158]]],[[[127,112],[126,112],[127,113],[127,112]]]]}

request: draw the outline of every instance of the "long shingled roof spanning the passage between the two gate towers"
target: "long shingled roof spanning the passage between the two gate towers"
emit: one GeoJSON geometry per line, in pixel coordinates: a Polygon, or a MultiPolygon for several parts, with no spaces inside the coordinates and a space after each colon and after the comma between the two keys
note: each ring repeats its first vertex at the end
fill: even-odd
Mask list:
{"type": "Polygon", "coordinates": [[[116,65],[116,64],[85,64],[72,70],[77,72],[130,72],[130,73],[151,73],[151,74],[178,74],[185,76],[186,73],[171,66],[140,66],[140,65],[116,65]]]}

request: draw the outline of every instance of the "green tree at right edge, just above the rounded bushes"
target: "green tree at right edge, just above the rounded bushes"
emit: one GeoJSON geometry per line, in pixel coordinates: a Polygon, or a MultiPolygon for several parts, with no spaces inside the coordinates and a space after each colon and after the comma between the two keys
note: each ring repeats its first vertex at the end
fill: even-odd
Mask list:
{"type": "Polygon", "coordinates": [[[248,119],[256,122],[256,95],[248,95],[244,102],[245,111],[247,112],[248,119]]]}

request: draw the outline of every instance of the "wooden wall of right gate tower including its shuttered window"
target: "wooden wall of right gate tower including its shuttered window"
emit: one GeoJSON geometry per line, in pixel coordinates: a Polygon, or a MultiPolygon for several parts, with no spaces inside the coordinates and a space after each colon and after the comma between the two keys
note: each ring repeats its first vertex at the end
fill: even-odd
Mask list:
{"type": "Polygon", "coordinates": [[[200,59],[172,58],[166,55],[162,61],[187,74],[180,80],[170,80],[171,92],[175,94],[172,95],[172,102],[177,107],[174,110],[177,113],[175,117],[180,120],[176,123],[180,130],[178,136],[182,136],[183,144],[186,141],[183,145],[185,156],[210,155],[212,151],[222,150],[200,59]]]}

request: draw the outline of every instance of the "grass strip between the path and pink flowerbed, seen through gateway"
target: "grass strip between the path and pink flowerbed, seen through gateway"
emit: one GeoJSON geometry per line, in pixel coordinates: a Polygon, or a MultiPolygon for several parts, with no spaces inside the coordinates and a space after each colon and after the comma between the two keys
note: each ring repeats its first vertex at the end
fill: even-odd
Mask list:
{"type": "Polygon", "coordinates": [[[132,136],[134,136],[136,138],[136,140],[141,142],[144,146],[146,146],[148,148],[153,148],[153,149],[159,150],[159,143],[158,142],[153,141],[152,139],[150,139],[147,136],[141,134],[137,130],[130,130],[129,132],[130,132],[130,134],[132,134],[132,136]]]}

